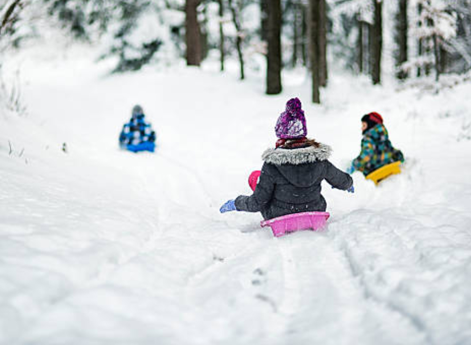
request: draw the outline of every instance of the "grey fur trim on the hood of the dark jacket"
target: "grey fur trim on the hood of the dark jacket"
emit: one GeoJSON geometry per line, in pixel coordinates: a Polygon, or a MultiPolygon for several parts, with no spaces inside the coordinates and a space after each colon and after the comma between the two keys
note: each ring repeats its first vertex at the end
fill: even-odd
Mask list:
{"type": "Polygon", "coordinates": [[[331,154],[332,148],[329,145],[319,143],[318,147],[309,146],[298,149],[270,148],[263,152],[262,159],[266,163],[277,166],[283,164],[298,165],[328,160],[331,154]]]}

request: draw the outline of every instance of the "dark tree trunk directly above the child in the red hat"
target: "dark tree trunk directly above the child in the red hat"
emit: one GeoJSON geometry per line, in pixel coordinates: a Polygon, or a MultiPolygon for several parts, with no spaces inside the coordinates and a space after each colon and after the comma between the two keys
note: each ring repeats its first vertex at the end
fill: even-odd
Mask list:
{"type": "Polygon", "coordinates": [[[371,35],[371,79],[373,84],[381,83],[381,54],[382,54],[382,1],[374,3],[374,24],[371,35]]]}

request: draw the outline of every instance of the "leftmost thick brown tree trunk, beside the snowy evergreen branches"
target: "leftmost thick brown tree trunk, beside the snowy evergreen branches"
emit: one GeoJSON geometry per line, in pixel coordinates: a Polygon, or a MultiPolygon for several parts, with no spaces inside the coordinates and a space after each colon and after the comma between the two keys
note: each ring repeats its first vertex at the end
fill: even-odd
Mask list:
{"type": "Polygon", "coordinates": [[[201,64],[201,31],[197,13],[197,7],[200,2],[201,0],[187,0],[185,4],[185,36],[188,66],[199,66],[201,64]]]}

